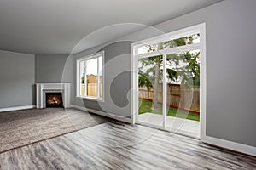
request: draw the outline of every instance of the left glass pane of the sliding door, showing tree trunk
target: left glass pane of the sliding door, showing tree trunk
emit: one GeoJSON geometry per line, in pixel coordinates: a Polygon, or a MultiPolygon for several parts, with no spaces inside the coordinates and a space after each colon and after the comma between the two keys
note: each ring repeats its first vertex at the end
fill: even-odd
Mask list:
{"type": "Polygon", "coordinates": [[[161,126],[163,119],[163,56],[138,59],[138,121],[161,126]]]}

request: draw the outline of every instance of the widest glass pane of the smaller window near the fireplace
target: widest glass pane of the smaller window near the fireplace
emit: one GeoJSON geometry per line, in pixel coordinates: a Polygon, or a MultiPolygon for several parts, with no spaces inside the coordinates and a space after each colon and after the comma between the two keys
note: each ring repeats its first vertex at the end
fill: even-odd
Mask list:
{"type": "Polygon", "coordinates": [[[90,59],[86,64],[86,87],[87,87],[87,96],[97,97],[97,58],[90,59]]]}

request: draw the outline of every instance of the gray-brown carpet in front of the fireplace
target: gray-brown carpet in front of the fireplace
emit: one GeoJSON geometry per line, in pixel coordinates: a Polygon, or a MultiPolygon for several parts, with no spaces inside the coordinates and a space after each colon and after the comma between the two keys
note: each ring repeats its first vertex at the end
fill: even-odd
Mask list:
{"type": "Polygon", "coordinates": [[[110,119],[76,109],[31,109],[0,113],[0,153],[72,133],[110,119]]]}

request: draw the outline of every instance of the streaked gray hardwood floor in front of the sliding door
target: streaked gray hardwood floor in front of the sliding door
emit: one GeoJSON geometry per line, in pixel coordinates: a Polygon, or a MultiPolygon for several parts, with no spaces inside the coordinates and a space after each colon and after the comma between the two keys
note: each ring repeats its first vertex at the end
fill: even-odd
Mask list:
{"type": "Polygon", "coordinates": [[[256,157],[107,122],[0,154],[0,169],[256,169],[256,157]]]}

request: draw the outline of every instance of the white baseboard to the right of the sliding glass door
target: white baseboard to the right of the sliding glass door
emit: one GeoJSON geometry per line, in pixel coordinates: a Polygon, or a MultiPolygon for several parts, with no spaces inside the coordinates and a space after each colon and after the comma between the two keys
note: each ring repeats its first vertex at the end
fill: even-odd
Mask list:
{"type": "Polygon", "coordinates": [[[224,139],[218,139],[211,136],[201,137],[201,142],[216,145],[229,150],[235,150],[241,153],[245,153],[247,155],[256,156],[256,147],[253,147],[247,144],[239,144],[236,142],[232,142],[224,139]]]}

